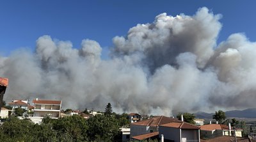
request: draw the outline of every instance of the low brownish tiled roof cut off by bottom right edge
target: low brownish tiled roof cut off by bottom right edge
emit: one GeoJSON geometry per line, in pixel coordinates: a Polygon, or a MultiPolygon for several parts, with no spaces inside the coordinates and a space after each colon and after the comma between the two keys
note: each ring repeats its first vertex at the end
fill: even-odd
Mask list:
{"type": "MultiPolygon", "coordinates": [[[[237,137],[236,138],[237,141],[239,142],[250,142],[249,138],[241,138],[241,137],[237,137]]],[[[201,142],[230,142],[230,141],[235,141],[235,137],[234,136],[220,136],[217,138],[212,138],[212,139],[200,139],[201,142]]]]}

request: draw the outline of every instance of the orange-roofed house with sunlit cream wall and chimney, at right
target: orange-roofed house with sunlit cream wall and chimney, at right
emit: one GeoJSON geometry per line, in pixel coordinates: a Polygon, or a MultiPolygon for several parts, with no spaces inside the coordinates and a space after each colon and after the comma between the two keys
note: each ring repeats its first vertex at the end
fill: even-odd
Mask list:
{"type": "MultiPolygon", "coordinates": [[[[242,137],[242,129],[236,129],[236,136],[242,137]]],[[[234,127],[223,124],[208,124],[200,126],[201,138],[216,138],[219,136],[234,136],[234,127]]]]}

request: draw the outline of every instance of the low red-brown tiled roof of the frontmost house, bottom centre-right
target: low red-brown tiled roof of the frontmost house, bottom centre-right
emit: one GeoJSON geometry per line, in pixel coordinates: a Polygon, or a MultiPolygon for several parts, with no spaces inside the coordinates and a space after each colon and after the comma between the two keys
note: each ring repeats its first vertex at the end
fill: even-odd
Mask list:
{"type": "Polygon", "coordinates": [[[172,128],[179,128],[179,129],[193,129],[193,130],[198,130],[200,127],[193,125],[191,123],[187,122],[171,122],[171,123],[166,123],[163,125],[160,125],[163,127],[172,127],[172,128]]]}

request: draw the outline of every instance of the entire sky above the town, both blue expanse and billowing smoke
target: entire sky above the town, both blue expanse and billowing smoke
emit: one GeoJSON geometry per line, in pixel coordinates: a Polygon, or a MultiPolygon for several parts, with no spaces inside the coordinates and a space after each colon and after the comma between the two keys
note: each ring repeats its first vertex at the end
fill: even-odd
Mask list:
{"type": "Polygon", "coordinates": [[[4,99],[158,115],[256,107],[255,3],[0,0],[4,99]]]}

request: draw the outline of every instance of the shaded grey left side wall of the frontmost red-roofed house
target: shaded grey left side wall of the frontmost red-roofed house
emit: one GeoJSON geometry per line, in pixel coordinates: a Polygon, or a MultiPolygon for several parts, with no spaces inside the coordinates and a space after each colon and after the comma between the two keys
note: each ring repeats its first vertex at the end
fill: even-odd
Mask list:
{"type": "Polygon", "coordinates": [[[159,126],[159,136],[164,135],[164,139],[180,142],[180,129],[159,126]]]}

